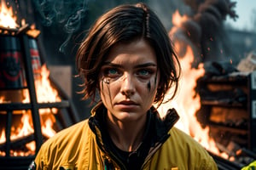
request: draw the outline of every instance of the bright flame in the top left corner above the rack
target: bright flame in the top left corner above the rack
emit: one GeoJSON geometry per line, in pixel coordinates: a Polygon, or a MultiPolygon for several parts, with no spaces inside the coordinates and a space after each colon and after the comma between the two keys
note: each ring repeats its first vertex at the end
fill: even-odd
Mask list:
{"type": "Polygon", "coordinates": [[[17,28],[19,25],[16,23],[16,17],[13,14],[13,8],[7,7],[6,3],[1,0],[0,7],[0,26],[6,28],[17,28]]]}

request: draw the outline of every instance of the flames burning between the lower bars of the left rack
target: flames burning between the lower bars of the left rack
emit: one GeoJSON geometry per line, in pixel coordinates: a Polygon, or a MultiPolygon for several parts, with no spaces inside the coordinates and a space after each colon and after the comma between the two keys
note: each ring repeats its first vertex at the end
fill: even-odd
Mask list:
{"type": "MultiPolygon", "coordinates": [[[[58,96],[57,91],[50,85],[49,82],[49,71],[46,68],[46,65],[41,67],[40,75],[35,77],[35,88],[38,98],[38,103],[50,103],[61,101],[61,98],[58,96]]],[[[24,99],[22,103],[30,102],[28,90],[23,91],[24,99]]],[[[9,102],[4,101],[1,97],[0,102],[9,102]],[[1,101],[3,100],[3,101],[1,101]]],[[[44,137],[50,138],[55,135],[55,130],[53,128],[55,124],[55,116],[53,114],[57,113],[57,109],[40,109],[39,110],[41,123],[42,123],[42,133],[44,137]]],[[[11,136],[10,140],[15,141],[17,139],[22,139],[28,137],[34,133],[32,126],[32,113],[31,111],[21,111],[20,123],[15,124],[11,127],[11,136]]],[[[0,144],[6,142],[5,130],[3,129],[0,133],[0,144]]],[[[28,151],[15,151],[11,150],[12,156],[27,156],[35,153],[36,145],[35,141],[29,142],[26,144],[26,150],[28,151]]],[[[4,156],[5,153],[0,151],[0,156],[4,156]]]]}

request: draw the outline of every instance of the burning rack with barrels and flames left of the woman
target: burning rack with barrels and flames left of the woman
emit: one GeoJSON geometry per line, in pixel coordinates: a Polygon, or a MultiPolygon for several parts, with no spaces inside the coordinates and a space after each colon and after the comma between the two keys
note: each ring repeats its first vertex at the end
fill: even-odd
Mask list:
{"type": "Polygon", "coordinates": [[[3,1],[0,14],[1,168],[26,169],[41,144],[78,122],[78,116],[50,80],[38,48],[40,31],[25,20],[16,24],[12,8],[3,1]]]}

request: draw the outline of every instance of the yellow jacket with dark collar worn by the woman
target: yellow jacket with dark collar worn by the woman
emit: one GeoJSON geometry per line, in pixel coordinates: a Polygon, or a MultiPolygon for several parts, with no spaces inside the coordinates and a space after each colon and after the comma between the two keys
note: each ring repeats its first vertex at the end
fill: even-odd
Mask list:
{"type": "MultiPolygon", "coordinates": [[[[68,127],[47,140],[36,156],[37,169],[100,170],[110,169],[109,164],[113,166],[112,169],[120,169],[116,161],[118,158],[106,150],[102,143],[101,131],[94,123],[94,117],[98,114],[96,112],[101,113],[102,107],[97,105],[90,119],[68,127]]],[[[158,113],[154,114],[154,119],[160,120],[158,113]]],[[[168,122],[160,120],[161,123],[156,125],[156,128],[160,129],[169,126],[166,135],[160,134],[166,137],[154,144],[142,169],[218,169],[212,156],[209,156],[201,144],[176,127],[172,127],[177,121],[176,111],[166,116],[166,120],[168,122]]],[[[163,130],[160,133],[164,133],[163,130]]]]}

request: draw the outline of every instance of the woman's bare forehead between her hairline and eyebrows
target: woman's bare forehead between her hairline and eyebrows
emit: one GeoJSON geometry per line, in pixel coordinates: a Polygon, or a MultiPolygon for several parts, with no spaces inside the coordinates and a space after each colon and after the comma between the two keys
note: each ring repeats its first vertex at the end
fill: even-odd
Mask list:
{"type": "Polygon", "coordinates": [[[118,43],[111,48],[106,62],[117,64],[136,64],[143,62],[153,62],[157,64],[154,48],[143,39],[130,42],[118,43]]]}

